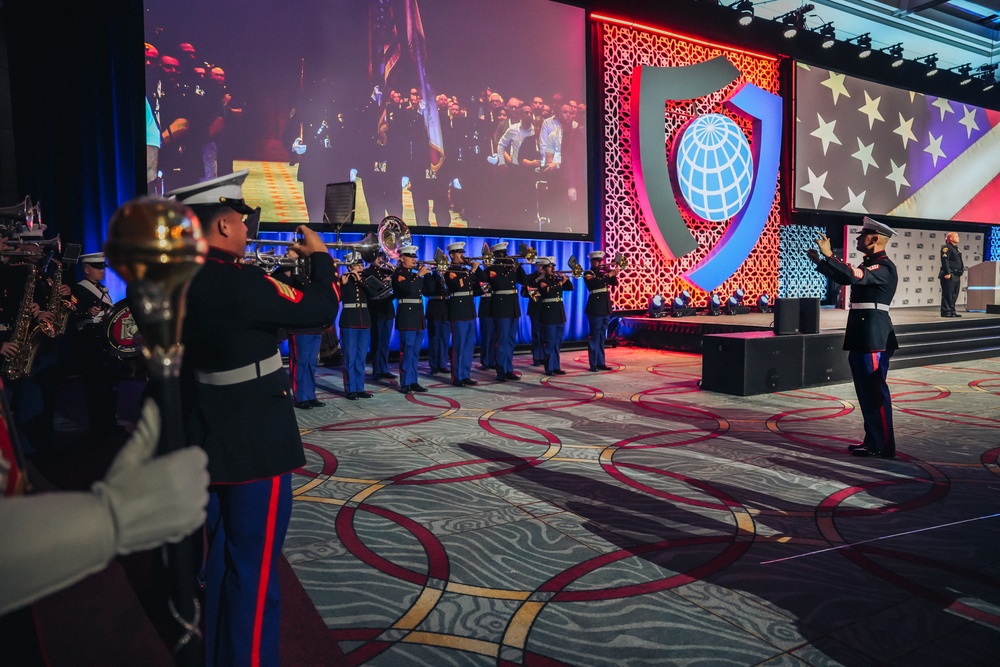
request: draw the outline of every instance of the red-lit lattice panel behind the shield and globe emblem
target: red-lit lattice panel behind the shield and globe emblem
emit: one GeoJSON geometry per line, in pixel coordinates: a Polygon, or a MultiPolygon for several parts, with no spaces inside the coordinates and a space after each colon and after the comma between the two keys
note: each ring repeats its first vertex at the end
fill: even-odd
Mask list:
{"type": "MultiPolygon", "coordinates": [[[[612,292],[614,306],[618,310],[645,309],[651,295],[672,297],[682,289],[690,290],[695,304],[704,306],[707,294],[681,280],[680,275],[708,254],[725,233],[728,223],[705,222],[691,217],[682,209],[681,214],[688,228],[698,239],[698,248],[684,257],[668,260],[656,247],[636,199],[632,177],[629,146],[632,69],[636,65],[680,67],[724,55],[742,72],[739,79],[713,95],[666,104],[663,144],[666,160],[674,134],[688,120],[707,113],[725,114],[752,137],[750,122],[725,110],[722,102],[735,88],[747,82],[778,94],[778,62],[634,26],[597,22],[601,35],[601,76],[604,83],[604,248],[610,255],[621,252],[629,261],[628,270],[619,275],[619,286],[612,292]]],[[[664,183],[662,187],[669,188],[671,185],[664,183]]],[[[751,302],[764,292],[772,298],[777,295],[778,210],[779,197],[775,193],[771,214],[760,240],[743,265],[719,287],[718,291],[724,297],[738,287],[746,291],[751,302]]]]}

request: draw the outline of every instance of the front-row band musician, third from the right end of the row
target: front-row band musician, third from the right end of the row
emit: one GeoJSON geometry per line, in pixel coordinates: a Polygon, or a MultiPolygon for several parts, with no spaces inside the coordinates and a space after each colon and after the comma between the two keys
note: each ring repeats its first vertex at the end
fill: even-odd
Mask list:
{"type": "MultiPolygon", "coordinates": [[[[520,262],[507,258],[507,242],[490,247],[493,264],[486,271],[486,279],[493,292],[493,336],[496,341],[494,357],[497,381],[520,380],[514,372],[514,345],[517,342],[517,323],[521,319],[521,304],[517,286],[525,285],[528,276],[520,262]]],[[[482,321],[480,320],[480,324],[482,321]]]]}

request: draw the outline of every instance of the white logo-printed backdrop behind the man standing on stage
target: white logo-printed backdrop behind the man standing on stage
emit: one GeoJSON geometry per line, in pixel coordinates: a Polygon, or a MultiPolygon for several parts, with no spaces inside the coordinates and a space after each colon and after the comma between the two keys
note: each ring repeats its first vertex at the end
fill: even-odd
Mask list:
{"type": "MultiPolygon", "coordinates": [[[[845,239],[854,239],[861,231],[861,225],[848,225],[845,239]]],[[[938,306],[941,304],[941,284],[938,269],[941,268],[941,248],[947,230],[896,229],[897,234],[886,246],[889,259],[896,265],[899,285],[892,300],[893,308],[914,308],[918,306],[938,306]]],[[[962,261],[966,271],[983,261],[984,235],[959,232],[958,249],[962,251],[962,261]]],[[[862,254],[849,248],[847,262],[852,266],[861,263],[862,254]]],[[[962,276],[962,290],[958,293],[956,305],[965,305],[968,273],[962,276]]]]}

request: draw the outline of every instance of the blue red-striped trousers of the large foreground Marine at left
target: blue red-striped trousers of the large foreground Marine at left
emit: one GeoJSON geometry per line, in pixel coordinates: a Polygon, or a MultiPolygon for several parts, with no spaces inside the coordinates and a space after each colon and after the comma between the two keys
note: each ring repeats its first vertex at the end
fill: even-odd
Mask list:
{"type": "Polygon", "coordinates": [[[277,665],[277,561],[292,515],[292,476],[216,484],[210,491],[206,665],[277,665]]]}

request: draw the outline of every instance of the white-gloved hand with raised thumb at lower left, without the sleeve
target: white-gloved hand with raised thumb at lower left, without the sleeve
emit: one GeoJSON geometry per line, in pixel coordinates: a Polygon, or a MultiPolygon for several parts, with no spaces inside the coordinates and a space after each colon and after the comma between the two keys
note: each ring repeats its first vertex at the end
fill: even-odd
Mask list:
{"type": "Polygon", "coordinates": [[[205,522],[208,457],[188,447],[153,458],[159,437],[159,408],[146,401],[135,433],[91,487],[111,510],[119,554],[179,542],[205,522]]]}

